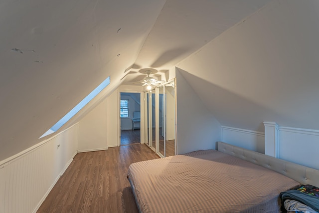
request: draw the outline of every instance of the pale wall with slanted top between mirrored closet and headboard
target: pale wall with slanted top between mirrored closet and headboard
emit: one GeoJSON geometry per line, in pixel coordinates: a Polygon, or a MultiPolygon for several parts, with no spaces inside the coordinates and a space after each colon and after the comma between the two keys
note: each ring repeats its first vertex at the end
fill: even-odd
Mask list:
{"type": "Polygon", "coordinates": [[[221,126],[176,69],[177,154],[215,149],[221,126]]]}

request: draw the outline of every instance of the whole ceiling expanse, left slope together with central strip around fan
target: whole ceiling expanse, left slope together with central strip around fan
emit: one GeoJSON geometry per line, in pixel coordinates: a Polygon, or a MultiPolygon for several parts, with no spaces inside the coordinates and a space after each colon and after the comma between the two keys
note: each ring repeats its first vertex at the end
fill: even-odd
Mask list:
{"type": "Polygon", "coordinates": [[[144,77],[142,68],[167,80],[174,64],[269,1],[2,0],[0,160],[39,143],[108,76],[113,89],[144,77]]]}

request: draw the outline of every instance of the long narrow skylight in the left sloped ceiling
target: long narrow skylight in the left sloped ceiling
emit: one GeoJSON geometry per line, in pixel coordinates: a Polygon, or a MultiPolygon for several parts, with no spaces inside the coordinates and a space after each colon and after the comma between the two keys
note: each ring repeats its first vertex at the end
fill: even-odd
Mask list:
{"type": "Polygon", "coordinates": [[[50,135],[60,129],[66,122],[68,122],[76,113],[78,113],[87,103],[89,103],[97,94],[99,94],[107,85],[110,84],[110,76],[107,77],[98,87],[96,87],[88,96],[86,96],[80,103],[78,103],[70,112],[54,124],[48,131],[46,131],[40,138],[50,135]]]}

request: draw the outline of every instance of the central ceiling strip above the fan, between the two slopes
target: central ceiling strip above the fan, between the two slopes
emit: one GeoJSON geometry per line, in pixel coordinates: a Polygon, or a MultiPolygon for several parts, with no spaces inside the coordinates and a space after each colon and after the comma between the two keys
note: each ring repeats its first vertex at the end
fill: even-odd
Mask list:
{"type": "Polygon", "coordinates": [[[269,1],[166,0],[124,84],[141,80],[148,67],[169,80],[163,73],[269,1]]]}

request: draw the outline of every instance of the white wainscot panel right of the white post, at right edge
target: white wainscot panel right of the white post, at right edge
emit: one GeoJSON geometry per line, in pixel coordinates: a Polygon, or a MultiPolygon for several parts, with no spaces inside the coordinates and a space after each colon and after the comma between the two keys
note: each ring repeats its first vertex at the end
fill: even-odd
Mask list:
{"type": "Polygon", "coordinates": [[[279,128],[279,158],[319,170],[319,131],[279,128]]]}

